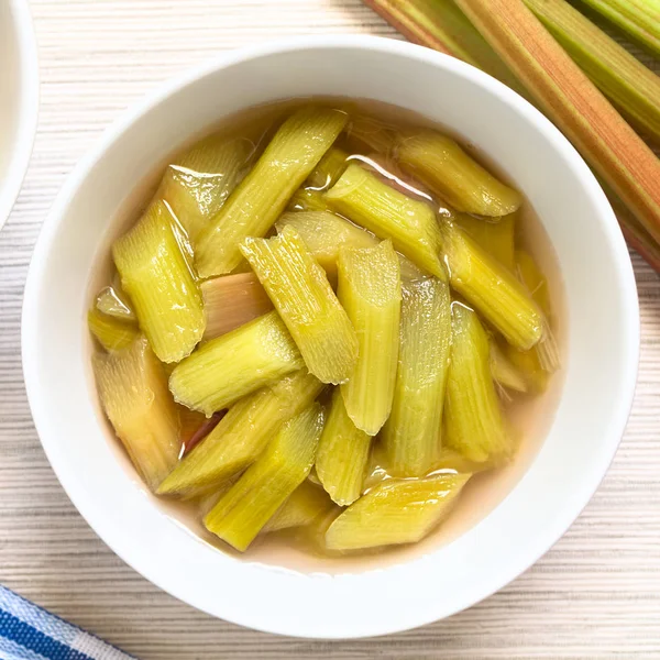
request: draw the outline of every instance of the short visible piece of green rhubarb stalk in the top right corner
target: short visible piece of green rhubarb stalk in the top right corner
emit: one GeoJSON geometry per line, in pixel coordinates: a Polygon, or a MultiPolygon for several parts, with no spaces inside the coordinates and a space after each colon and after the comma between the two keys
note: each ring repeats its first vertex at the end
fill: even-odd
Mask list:
{"type": "Polygon", "coordinates": [[[659,0],[582,0],[619,30],[660,56],[659,0]]]}

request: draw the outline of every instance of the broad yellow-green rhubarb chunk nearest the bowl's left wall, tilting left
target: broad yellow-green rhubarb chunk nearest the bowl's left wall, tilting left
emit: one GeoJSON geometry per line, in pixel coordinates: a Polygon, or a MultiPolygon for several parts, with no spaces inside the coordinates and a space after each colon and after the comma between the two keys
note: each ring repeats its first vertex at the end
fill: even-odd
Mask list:
{"type": "Polygon", "coordinates": [[[206,327],[201,294],[175,223],[169,208],[156,201],[112,246],[140,328],[162,362],[189,355],[206,327]]]}

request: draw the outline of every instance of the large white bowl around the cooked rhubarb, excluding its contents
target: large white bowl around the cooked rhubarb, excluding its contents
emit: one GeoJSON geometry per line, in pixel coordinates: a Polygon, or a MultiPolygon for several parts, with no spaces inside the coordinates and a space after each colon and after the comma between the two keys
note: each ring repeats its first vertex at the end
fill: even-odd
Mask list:
{"type": "Polygon", "coordinates": [[[30,271],[23,365],[42,443],[97,534],[178,598],[252,628],[350,638],[449,616],[541,557],[585,506],[628,417],[639,343],[635,279],[615,217],[559,131],[509,89],[455,59],[365,36],[289,40],[230,53],[167,84],[112,127],[47,218],[30,271]],[[240,109],[336,95],[408,108],[469,136],[527,194],[566,288],[563,395],[536,460],[485,519],[421,558],[305,574],[237,559],[164,516],[116,459],[89,373],[88,284],[135,182],[190,135],[240,109]]]}

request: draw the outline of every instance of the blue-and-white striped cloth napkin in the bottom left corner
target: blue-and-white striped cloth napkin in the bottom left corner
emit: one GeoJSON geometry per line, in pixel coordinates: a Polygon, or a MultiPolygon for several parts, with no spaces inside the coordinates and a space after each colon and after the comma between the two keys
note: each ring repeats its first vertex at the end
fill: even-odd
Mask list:
{"type": "Polygon", "coordinates": [[[0,585],[0,660],[134,660],[0,585]]]}

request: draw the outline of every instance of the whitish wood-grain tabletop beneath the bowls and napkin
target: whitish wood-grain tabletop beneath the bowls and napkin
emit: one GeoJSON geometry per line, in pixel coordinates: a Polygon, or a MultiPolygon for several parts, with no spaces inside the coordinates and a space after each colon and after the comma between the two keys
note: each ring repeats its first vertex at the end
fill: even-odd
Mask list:
{"type": "MultiPolygon", "coordinates": [[[[525,575],[472,609],[375,640],[278,638],[175,601],[96,537],[48,466],[20,362],[28,264],[65,177],[127,106],[220,51],[295,34],[397,35],[360,0],[31,4],[40,43],[41,119],[23,193],[0,233],[0,583],[143,660],[660,658],[660,280],[636,256],[641,367],[617,458],[565,537],[525,575]]],[[[62,380],[66,386],[66,374],[62,380]]]]}

